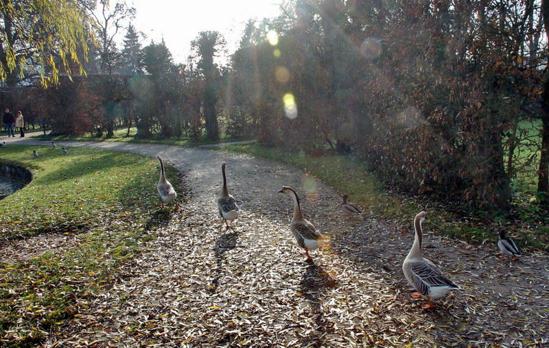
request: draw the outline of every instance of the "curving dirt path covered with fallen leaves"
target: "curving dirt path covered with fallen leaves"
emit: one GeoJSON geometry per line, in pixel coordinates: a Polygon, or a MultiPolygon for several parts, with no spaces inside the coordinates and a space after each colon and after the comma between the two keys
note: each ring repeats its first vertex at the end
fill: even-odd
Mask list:
{"type": "MultiPolygon", "coordinates": [[[[43,145],[37,140],[23,144],[43,145]]],[[[463,290],[424,312],[401,273],[413,240],[390,221],[345,221],[333,189],[290,166],[222,151],[117,142],[62,142],[161,154],[187,177],[183,211],[122,270],[113,288],[80,300],[80,315],[50,344],[162,346],[549,345],[549,256],[512,266],[495,243],[471,246],[430,233],[425,254],[463,290]],[[222,227],[220,164],[242,218],[222,227]],[[288,224],[297,188],[307,219],[330,234],[303,262],[288,224]]],[[[421,203],[421,202],[418,202],[421,203]]],[[[412,217],[408,225],[412,226],[412,217]]]]}

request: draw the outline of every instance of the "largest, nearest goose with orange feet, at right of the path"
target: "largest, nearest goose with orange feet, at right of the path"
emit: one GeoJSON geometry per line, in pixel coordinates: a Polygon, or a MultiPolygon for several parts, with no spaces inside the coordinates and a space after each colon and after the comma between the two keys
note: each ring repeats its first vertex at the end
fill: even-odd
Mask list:
{"type": "Polygon", "coordinates": [[[431,299],[443,297],[449,290],[459,290],[460,287],[449,280],[430,260],[421,256],[421,243],[423,240],[423,229],[421,223],[427,219],[425,212],[420,212],[414,219],[415,238],[412,249],[404,259],[402,271],[417,292],[412,297],[419,299],[427,297],[428,303],[423,303],[423,309],[434,308],[431,299]]]}

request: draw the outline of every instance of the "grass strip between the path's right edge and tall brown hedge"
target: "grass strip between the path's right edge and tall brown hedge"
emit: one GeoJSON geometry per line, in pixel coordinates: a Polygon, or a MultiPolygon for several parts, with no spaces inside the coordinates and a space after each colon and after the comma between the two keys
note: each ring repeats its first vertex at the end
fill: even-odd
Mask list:
{"type": "Polygon", "coordinates": [[[549,251],[549,221],[539,221],[536,214],[535,217],[527,215],[524,221],[482,221],[470,218],[464,216],[463,212],[455,212],[456,207],[452,205],[388,190],[375,175],[366,170],[366,163],[357,158],[333,153],[313,158],[306,156],[303,151],[290,152],[259,145],[226,145],[220,149],[292,164],[342,194],[347,193],[349,199],[360,204],[366,212],[392,219],[404,228],[412,228],[412,219],[417,212],[428,210],[429,223],[425,224],[428,230],[474,243],[494,243],[495,247],[497,229],[502,223],[519,247],[549,251]]]}

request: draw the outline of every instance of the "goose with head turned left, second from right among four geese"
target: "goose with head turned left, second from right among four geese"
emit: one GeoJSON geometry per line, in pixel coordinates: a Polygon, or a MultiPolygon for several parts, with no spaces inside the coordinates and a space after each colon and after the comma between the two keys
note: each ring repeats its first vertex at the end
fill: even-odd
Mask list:
{"type": "Polygon", "coordinates": [[[305,249],[304,253],[307,255],[305,262],[312,261],[309,250],[318,248],[318,240],[322,237],[322,234],[316,230],[312,223],[303,218],[301,206],[299,205],[299,197],[293,188],[283,186],[279,192],[292,197],[294,200],[294,217],[290,223],[290,230],[297,240],[297,245],[305,249]]]}

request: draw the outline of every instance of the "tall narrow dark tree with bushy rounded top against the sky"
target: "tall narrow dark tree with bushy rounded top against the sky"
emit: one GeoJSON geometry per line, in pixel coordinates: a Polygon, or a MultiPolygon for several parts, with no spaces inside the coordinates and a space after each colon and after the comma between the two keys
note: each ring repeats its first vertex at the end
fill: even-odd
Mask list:
{"type": "Polygon", "coordinates": [[[219,70],[213,62],[213,57],[223,45],[225,45],[225,40],[219,32],[200,32],[198,37],[191,42],[191,47],[200,57],[198,69],[204,77],[203,106],[206,134],[209,140],[219,138],[218,117],[215,112],[218,103],[216,80],[219,76],[219,70]]]}

